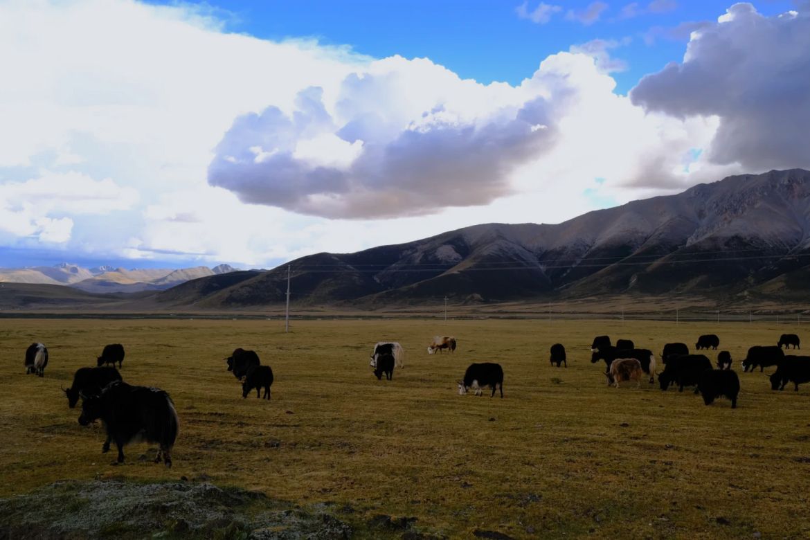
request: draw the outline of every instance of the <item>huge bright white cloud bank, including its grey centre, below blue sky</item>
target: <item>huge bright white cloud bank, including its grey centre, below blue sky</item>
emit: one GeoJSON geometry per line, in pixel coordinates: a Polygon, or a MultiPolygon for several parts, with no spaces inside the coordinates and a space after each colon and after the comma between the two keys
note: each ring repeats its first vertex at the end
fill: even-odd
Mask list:
{"type": "MultiPolygon", "coordinates": [[[[606,9],[591,7],[583,23],[606,9]]],[[[484,85],[428,59],[228,34],[215,15],[130,0],[0,3],[0,50],[15,52],[0,54],[13,82],[0,85],[6,246],[267,266],[558,222],[594,207],[583,193],[597,178],[600,197],[625,202],[734,167],[693,152],[717,117],[646,114],[593,50],[484,85]]]]}

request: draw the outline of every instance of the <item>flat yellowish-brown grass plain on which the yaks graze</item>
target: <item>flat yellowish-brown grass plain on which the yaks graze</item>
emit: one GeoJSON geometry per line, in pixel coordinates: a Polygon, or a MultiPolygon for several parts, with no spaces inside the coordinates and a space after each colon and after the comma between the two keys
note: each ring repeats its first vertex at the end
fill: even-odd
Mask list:
{"type": "MultiPolygon", "coordinates": [[[[476,529],[514,538],[807,538],[810,385],[771,391],[743,373],[748,347],[795,325],[645,321],[14,320],[0,326],[0,497],[58,479],[210,478],[304,506],[352,507],[357,535],[377,514],[450,538],[476,529]],[[665,342],[716,333],[742,390],[737,409],[704,406],[691,389],[608,388],[590,364],[596,334],[632,338],[659,356],[665,342]],[[434,334],[454,355],[428,355],[434,334]],[[369,368],[374,342],[407,352],[393,381],[369,368]],[[23,353],[45,342],[45,378],[23,353]],[[124,380],[168,390],[181,432],[174,466],[139,460],[147,444],[101,454],[101,427],[80,427],[60,385],[95,365],[106,343],[126,347],[124,380]],[[569,367],[548,364],[561,342],[569,367]],[[258,352],[275,373],[272,400],[241,397],[224,357],[258,352]],[[460,397],[475,361],[499,362],[505,398],[460,397]]],[[[810,343],[810,339],[808,339],[810,343]]],[[[810,345],[808,345],[810,346],[810,345]]],[[[716,351],[710,351],[710,359],[716,351]]],[[[151,458],[151,454],[149,455],[151,458]]],[[[401,534],[401,533],[400,533],[401,534]]]]}

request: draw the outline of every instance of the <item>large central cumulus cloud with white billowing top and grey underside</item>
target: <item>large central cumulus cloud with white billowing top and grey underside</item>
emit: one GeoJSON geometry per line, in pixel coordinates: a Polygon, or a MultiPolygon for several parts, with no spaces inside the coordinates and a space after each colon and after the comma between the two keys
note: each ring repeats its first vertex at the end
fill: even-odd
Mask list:
{"type": "Polygon", "coordinates": [[[271,106],[237,118],[208,180],[243,202],[327,218],[484,205],[510,193],[509,175],[552,147],[570,91],[543,70],[522,87],[484,86],[394,57],[350,74],[328,102],[310,87],[293,113],[271,106]]]}

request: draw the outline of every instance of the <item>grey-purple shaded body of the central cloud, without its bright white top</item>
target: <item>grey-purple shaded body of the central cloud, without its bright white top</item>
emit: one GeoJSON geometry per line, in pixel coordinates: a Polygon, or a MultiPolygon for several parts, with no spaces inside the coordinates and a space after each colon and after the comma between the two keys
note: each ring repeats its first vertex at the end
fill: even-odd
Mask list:
{"type": "Polygon", "coordinates": [[[237,118],[216,148],[208,182],[243,202],[306,215],[394,218],[488,204],[511,193],[510,172],[552,146],[555,130],[541,97],[472,121],[448,120],[437,104],[403,129],[367,99],[377,93],[396,108],[379,96],[375,77],[355,79],[344,83],[347,95],[335,106],[347,118],[343,125],[326,112],[319,88],[303,91],[292,115],[270,107],[237,118]],[[343,165],[296,152],[299,142],[322,134],[362,150],[343,165]]]}

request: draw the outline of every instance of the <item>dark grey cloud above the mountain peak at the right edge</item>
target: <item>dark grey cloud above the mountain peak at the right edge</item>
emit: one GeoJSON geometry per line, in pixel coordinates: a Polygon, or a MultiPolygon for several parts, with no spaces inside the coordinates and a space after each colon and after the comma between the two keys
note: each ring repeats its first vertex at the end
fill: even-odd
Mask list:
{"type": "Polygon", "coordinates": [[[810,168],[810,17],[735,4],[693,32],[683,62],[647,75],[631,97],[675,117],[718,117],[708,153],[716,164],[810,168]]]}

